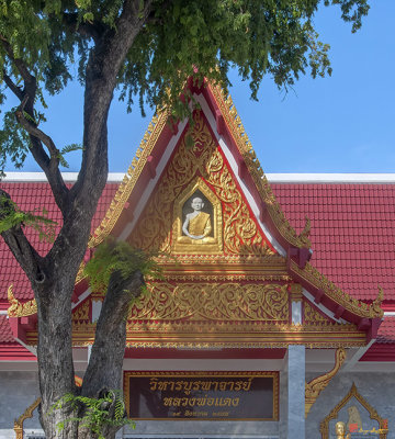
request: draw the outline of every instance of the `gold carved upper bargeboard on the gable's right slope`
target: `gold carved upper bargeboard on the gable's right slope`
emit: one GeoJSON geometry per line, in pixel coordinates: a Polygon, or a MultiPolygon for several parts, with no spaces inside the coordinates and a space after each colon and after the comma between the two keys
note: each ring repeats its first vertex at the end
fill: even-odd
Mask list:
{"type": "Polygon", "coordinates": [[[305,233],[302,233],[301,235],[297,235],[295,229],[287,222],[284,213],[280,207],[280,204],[275,200],[275,196],[270,188],[270,184],[263,173],[259,160],[252,149],[251,143],[242,126],[241,120],[237,115],[237,111],[230,95],[225,97],[224,90],[219,86],[213,86],[208,83],[208,89],[213,93],[219,106],[225,122],[237,144],[240,154],[245,159],[247,168],[279,232],[294,246],[309,248],[311,241],[308,239],[308,233],[306,233],[307,230],[305,230],[305,233]]]}

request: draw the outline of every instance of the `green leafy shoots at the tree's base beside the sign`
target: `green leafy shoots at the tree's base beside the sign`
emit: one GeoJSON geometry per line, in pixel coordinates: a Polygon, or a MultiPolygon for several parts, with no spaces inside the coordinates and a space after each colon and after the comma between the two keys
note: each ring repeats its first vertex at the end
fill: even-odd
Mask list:
{"type": "Polygon", "coordinates": [[[135,428],[135,423],[125,417],[125,404],[121,391],[112,390],[105,396],[100,398],[90,398],[87,396],[76,396],[71,393],[63,396],[49,410],[69,408],[76,416],[66,418],[57,425],[61,431],[67,424],[78,423],[79,427],[88,428],[98,439],[105,439],[102,435],[103,427],[122,427],[128,425],[135,428]]]}

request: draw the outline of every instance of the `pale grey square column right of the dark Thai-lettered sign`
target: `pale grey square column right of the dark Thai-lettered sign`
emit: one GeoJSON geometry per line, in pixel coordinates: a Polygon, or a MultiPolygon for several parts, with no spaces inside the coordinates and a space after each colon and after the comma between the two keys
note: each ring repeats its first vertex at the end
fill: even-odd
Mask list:
{"type": "Polygon", "coordinates": [[[287,439],[305,439],[305,346],[287,351],[287,439]]]}

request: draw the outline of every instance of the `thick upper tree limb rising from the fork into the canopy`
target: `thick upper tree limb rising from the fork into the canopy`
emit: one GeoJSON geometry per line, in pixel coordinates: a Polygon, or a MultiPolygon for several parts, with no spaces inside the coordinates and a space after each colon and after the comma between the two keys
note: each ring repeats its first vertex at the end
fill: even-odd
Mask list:
{"type": "MultiPolygon", "coordinates": [[[[92,48],[87,66],[83,153],[81,170],[72,193],[80,203],[94,202],[92,187],[100,195],[108,175],[106,119],[116,78],[136,35],[143,29],[150,12],[151,1],[139,9],[138,0],[124,0],[123,10],[115,22],[115,30],[109,30],[92,48]]],[[[92,204],[93,205],[93,204],[92,204]]]]}

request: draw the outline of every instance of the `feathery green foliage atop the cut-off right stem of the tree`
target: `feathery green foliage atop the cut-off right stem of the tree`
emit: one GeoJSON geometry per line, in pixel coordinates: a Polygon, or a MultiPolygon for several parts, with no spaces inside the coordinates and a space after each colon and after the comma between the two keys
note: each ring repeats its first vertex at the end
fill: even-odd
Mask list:
{"type": "Polygon", "coordinates": [[[161,278],[160,268],[155,261],[158,252],[147,254],[133,248],[125,241],[108,239],[95,249],[93,257],[84,267],[84,274],[88,275],[93,291],[106,290],[114,271],[121,272],[124,279],[137,270],[144,277],[161,278]]]}

